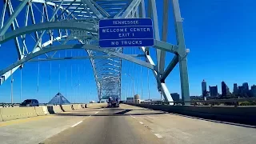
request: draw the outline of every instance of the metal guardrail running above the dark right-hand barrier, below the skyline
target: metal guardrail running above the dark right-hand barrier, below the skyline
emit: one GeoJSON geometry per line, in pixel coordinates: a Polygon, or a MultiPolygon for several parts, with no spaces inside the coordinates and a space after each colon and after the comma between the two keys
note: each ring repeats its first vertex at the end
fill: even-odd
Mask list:
{"type": "Polygon", "coordinates": [[[174,106],[185,106],[186,103],[190,103],[192,106],[256,106],[256,98],[232,98],[232,99],[210,99],[210,100],[192,100],[192,101],[174,101],[174,102],[141,102],[142,104],[149,105],[172,105],[174,106]],[[239,103],[240,102],[240,103],[239,103]],[[242,103],[245,102],[245,103],[242,103]],[[247,103],[246,103],[247,102],[247,103]],[[248,103],[250,102],[250,103],[248,103]],[[222,105],[223,106],[223,105],[222,105]]]}

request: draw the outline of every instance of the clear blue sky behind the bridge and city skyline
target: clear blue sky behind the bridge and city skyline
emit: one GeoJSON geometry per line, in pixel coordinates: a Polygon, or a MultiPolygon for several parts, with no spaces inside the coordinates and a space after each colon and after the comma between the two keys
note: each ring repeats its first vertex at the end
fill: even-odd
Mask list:
{"type": "MultiPolygon", "coordinates": [[[[201,94],[201,82],[205,79],[207,87],[220,85],[222,81],[233,90],[233,83],[242,85],[256,84],[254,54],[255,46],[255,6],[254,0],[180,0],[181,14],[184,18],[183,28],[186,47],[190,49],[188,54],[188,70],[190,81],[190,95],[201,94]]],[[[159,31],[162,32],[162,1],[157,1],[159,31]]],[[[2,3],[0,3],[2,10],[2,3]]],[[[168,42],[175,44],[174,21],[172,6],[169,12],[168,42]]],[[[125,53],[135,54],[137,49],[126,49],[125,53]]],[[[85,54],[80,50],[80,54],[85,54]]],[[[0,69],[9,66],[17,59],[14,41],[6,42],[0,47],[0,69]]],[[[62,54],[65,54],[63,51],[62,54]]],[[[71,51],[67,50],[67,55],[71,51]]],[[[154,62],[155,51],[150,49],[154,62]]],[[[57,54],[58,55],[58,54],[57,54]]],[[[78,55],[78,50],[73,51],[78,55]]],[[[44,56],[41,56],[41,58],[44,56]]],[[[173,58],[173,54],[166,54],[166,66],[173,58]]],[[[54,94],[58,93],[58,66],[61,65],[61,89],[60,92],[72,102],[88,102],[97,98],[97,90],[94,82],[93,71],[89,60],[54,61],[52,62],[51,86],[50,62],[40,62],[40,76],[38,81],[38,62],[27,62],[22,70],[22,100],[25,98],[38,98],[39,102],[48,102],[54,94]],[[73,81],[71,81],[71,65],[73,67],[73,81]],[[80,74],[78,74],[78,67],[80,74]],[[67,69],[67,70],[66,70],[67,69]],[[67,78],[65,77],[67,73],[67,78]],[[80,78],[80,90],[78,84],[80,78]],[[66,82],[67,81],[67,82],[66,82]],[[39,82],[39,89],[38,89],[39,82]],[[67,86],[67,89],[66,89],[67,86]],[[72,100],[71,100],[72,99],[72,100]]],[[[125,73],[133,75],[135,79],[135,93],[148,98],[147,70],[130,62],[123,62],[122,70],[122,98],[131,94],[132,82],[125,73]],[[142,75],[142,77],[141,77],[142,75]],[[141,88],[142,82],[142,88],[141,88]]],[[[159,98],[154,76],[150,72],[150,98],[159,98]]],[[[14,73],[14,102],[20,102],[20,70],[14,73]]],[[[180,82],[178,66],[174,68],[166,84],[171,93],[180,94],[180,82]]],[[[10,79],[0,86],[0,102],[10,102],[10,79]]]]}

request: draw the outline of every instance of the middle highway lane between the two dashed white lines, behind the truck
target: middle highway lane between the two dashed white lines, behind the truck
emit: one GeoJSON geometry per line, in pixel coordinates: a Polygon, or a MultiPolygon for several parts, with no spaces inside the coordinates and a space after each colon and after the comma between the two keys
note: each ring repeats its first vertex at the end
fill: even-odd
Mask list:
{"type": "MultiPolygon", "coordinates": [[[[127,110],[105,108],[86,118],[77,126],[46,139],[43,144],[160,144],[163,143],[152,131],[126,114],[127,110]]],[[[81,114],[82,115],[82,114],[81,114]]]]}

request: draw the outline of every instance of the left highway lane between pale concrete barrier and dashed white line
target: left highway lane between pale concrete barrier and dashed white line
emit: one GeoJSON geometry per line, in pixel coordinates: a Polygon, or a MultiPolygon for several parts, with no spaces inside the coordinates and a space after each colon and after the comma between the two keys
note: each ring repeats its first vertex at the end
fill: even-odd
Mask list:
{"type": "Polygon", "coordinates": [[[0,122],[1,144],[36,144],[59,132],[69,129],[75,123],[89,118],[100,109],[73,110],[63,114],[83,114],[83,116],[62,116],[50,114],[34,118],[23,118],[0,122]]]}

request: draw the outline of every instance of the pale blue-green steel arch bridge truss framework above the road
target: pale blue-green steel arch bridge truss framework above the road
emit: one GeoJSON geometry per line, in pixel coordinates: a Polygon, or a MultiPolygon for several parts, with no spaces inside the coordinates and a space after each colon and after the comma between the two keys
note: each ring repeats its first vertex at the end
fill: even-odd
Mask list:
{"type": "MultiPolygon", "coordinates": [[[[121,96],[122,59],[152,70],[158,90],[168,102],[173,99],[165,79],[179,63],[182,100],[190,99],[186,64],[186,47],[178,0],[163,0],[162,39],[158,27],[155,0],[2,0],[0,44],[14,40],[17,62],[0,70],[0,85],[26,62],[90,58],[98,98],[121,96]],[[147,10],[146,10],[147,6],[147,10]],[[172,6],[177,44],[166,42],[168,10],[172,6]],[[152,18],[157,62],[150,57],[149,47],[139,47],[142,54],[124,54],[122,47],[103,49],[98,46],[98,21],[106,18],[152,18]],[[31,45],[31,43],[33,45],[31,45]],[[87,56],[62,57],[59,50],[86,50],[87,56]],[[166,52],[174,58],[165,70],[166,52]],[[38,56],[45,58],[35,59],[38,56]],[[146,61],[138,57],[146,58],[146,61]]],[[[12,41],[13,42],[13,41],[12,41]]]]}

